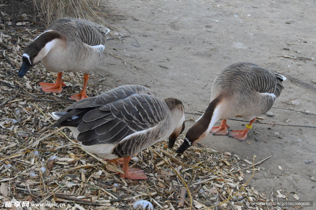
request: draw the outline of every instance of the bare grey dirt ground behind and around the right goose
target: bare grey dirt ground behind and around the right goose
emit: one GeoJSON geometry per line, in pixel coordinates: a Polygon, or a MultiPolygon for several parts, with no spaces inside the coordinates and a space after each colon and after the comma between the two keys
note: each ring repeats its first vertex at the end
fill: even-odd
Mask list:
{"type": "MultiPolygon", "coordinates": [[[[313,113],[272,108],[274,116],[263,115],[261,122],[316,126],[315,60],[279,57],[316,59],[315,2],[117,0],[100,3],[110,5],[117,14],[131,15],[122,16],[122,20],[113,21],[112,25],[123,36],[131,32],[137,39],[127,37],[124,43],[109,40],[106,49],[152,74],[105,53],[97,72],[110,75],[106,76],[106,85],[147,85],[162,98],[182,100],[187,112],[199,113],[210,102],[216,75],[231,63],[247,61],[288,78],[273,107],[313,113]],[[300,105],[292,105],[294,99],[300,105]]],[[[189,120],[198,117],[186,114],[185,131],[194,123],[189,120]]],[[[228,121],[228,125],[231,129],[244,129],[242,122],[228,121]]],[[[269,197],[275,201],[276,190],[283,190],[283,194],[292,192],[287,195],[289,201],[295,200],[294,192],[301,201],[316,201],[316,182],[310,179],[316,176],[316,129],[263,124],[255,124],[254,128],[258,133],[242,142],[208,135],[202,143],[250,161],[256,155],[255,162],[272,156],[261,164],[263,170],[255,174],[251,184],[261,192],[270,193],[269,197]],[[259,140],[255,141],[255,137],[259,140]],[[303,162],[309,160],[314,162],[303,162]]]]}

